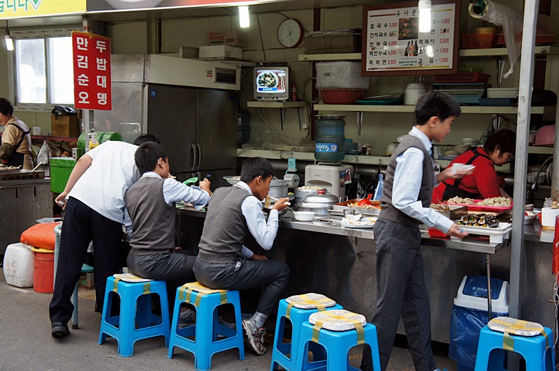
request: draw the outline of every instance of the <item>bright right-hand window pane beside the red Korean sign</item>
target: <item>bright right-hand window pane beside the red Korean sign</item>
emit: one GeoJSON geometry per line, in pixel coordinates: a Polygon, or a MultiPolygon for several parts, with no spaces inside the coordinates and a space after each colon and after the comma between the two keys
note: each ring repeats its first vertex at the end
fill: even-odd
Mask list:
{"type": "Polygon", "coordinates": [[[48,38],[50,103],[73,105],[72,38],[48,38]]]}

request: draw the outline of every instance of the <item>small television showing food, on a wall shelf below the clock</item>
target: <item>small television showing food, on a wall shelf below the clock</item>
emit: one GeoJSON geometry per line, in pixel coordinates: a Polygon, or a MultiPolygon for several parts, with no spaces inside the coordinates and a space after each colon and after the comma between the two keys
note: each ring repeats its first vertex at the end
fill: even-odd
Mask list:
{"type": "Polygon", "coordinates": [[[282,101],[289,98],[289,67],[254,67],[254,99],[282,101]]]}

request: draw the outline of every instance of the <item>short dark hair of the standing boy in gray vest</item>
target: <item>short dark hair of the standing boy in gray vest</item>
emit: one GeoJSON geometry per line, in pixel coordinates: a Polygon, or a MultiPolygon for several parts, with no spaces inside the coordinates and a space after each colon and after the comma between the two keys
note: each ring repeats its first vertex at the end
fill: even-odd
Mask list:
{"type": "Polygon", "coordinates": [[[450,116],[460,116],[460,105],[444,91],[430,91],[417,100],[415,106],[415,119],[417,125],[425,125],[433,116],[441,121],[450,116]]]}

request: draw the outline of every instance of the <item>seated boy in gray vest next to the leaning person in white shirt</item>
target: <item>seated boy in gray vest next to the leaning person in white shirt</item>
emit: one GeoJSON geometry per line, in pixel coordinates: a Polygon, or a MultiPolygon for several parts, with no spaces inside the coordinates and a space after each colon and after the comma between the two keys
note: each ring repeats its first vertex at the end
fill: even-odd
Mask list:
{"type": "Polygon", "coordinates": [[[188,187],[169,177],[165,147],[144,143],[134,154],[141,178],[126,190],[126,209],[132,219],[131,250],[126,259],[131,273],[177,285],[194,282],[196,257],[175,253],[175,202],[189,202],[197,209],[210,200],[210,181],[188,187]]]}

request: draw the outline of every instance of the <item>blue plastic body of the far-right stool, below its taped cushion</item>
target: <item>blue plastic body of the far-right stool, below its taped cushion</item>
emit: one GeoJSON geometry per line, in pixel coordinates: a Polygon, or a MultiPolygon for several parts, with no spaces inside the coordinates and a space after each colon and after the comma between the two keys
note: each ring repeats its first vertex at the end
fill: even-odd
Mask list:
{"type": "MultiPolygon", "coordinates": [[[[553,332],[544,327],[544,335],[519,336],[509,335],[514,340],[514,352],[521,354],[526,361],[526,370],[555,370],[555,354],[553,352],[553,332]]],[[[493,331],[488,326],[481,328],[477,346],[475,371],[504,371],[504,359],[507,350],[503,345],[504,333],[493,331]]]]}

